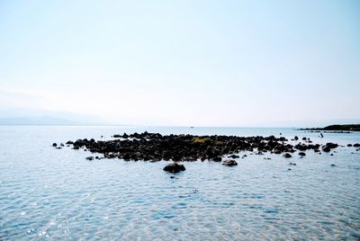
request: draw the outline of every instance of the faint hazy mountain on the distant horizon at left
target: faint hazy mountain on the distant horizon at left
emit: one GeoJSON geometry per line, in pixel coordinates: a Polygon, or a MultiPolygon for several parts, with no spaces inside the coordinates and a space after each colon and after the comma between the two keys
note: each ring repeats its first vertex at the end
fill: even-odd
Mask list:
{"type": "Polygon", "coordinates": [[[47,110],[0,110],[0,125],[104,125],[99,117],[47,110]]]}

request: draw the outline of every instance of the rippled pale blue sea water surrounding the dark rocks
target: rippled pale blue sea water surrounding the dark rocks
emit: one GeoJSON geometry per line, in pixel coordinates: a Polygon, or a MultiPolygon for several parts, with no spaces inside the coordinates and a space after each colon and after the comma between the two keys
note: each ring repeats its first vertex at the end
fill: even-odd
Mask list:
{"type": "Polygon", "coordinates": [[[360,238],[355,147],[302,159],[244,152],[237,166],[185,162],[180,174],[164,172],[166,162],[86,161],[92,155],[84,150],[51,147],[145,130],[360,143],[360,133],[319,138],[296,129],[2,126],[0,240],[360,238]]]}

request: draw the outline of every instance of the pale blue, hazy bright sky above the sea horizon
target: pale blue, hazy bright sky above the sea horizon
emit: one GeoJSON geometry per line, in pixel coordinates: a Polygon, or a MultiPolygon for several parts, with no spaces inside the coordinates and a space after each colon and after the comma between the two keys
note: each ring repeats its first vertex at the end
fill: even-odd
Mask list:
{"type": "Polygon", "coordinates": [[[0,0],[0,112],[303,126],[359,103],[357,0],[0,0]]]}

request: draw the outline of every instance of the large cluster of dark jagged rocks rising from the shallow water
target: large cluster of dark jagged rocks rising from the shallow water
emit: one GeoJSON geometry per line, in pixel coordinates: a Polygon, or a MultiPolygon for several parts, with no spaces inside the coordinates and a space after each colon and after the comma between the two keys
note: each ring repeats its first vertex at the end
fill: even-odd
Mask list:
{"type": "MultiPolygon", "coordinates": [[[[236,136],[193,136],[193,135],[166,135],[143,132],[128,135],[114,135],[112,140],[77,139],[68,141],[74,149],[86,148],[90,152],[103,154],[106,158],[119,157],[128,160],[144,161],[196,161],[211,160],[220,162],[224,156],[238,157],[240,151],[256,151],[257,154],[271,152],[291,157],[290,153],[297,150],[299,155],[305,156],[303,151],[314,150],[329,152],[338,144],[328,143],[325,146],[306,143],[292,145],[284,137],[236,137],[236,136]]],[[[294,139],[298,139],[295,137],[294,139]]]]}

